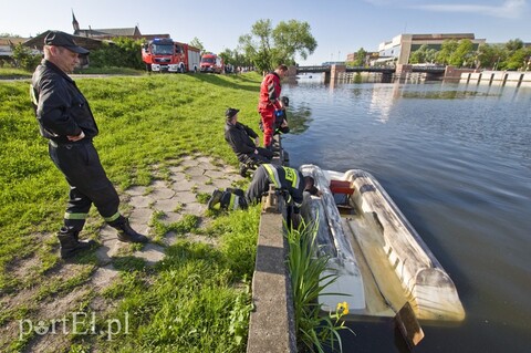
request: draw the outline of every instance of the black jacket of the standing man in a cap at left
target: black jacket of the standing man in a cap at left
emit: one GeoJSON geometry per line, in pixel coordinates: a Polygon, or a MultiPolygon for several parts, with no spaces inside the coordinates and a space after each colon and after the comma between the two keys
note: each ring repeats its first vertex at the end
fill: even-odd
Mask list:
{"type": "Polygon", "coordinates": [[[77,136],[83,131],[85,138],[79,143],[84,143],[97,135],[88,102],[56,65],[44,59],[33,73],[31,90],[42,136],[58,144],[73,144],[66,136],[77,136]]]}

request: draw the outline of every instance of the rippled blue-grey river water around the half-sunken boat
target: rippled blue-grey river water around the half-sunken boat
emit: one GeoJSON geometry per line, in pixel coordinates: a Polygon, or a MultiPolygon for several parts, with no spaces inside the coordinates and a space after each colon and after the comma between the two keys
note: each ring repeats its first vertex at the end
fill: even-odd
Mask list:
{"type": "MultiPolygon", "coordinates": [[[[531,87],[285,83],[290,164],[372,173],[454,280],[466,320],[415,352],[531,352],[531,87]]],[[[391,320],[344,352],[402,352],[391,320]]]]}

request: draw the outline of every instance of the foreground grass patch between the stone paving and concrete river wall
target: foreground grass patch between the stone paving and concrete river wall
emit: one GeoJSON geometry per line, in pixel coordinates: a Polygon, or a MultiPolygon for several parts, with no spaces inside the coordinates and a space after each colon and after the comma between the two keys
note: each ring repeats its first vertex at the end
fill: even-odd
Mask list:
{"type": "Polygon", "coordinates": [[[143,269],[124,272],[107,290],[110,298],[121,299],[110,318],[127,315],[133,329],[103,340],[100,349],[243,352],[259,217],[258,207],[220,216],[210,229],[221,238],[220,248],[183,239],[167,249],[156,276],[143,269]]]}

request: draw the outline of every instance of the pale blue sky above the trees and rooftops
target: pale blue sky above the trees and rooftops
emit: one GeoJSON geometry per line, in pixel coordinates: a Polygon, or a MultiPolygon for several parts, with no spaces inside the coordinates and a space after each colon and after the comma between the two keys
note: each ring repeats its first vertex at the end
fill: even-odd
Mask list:
{"type": "Polygon", "coordinates": [[[168,33],[208,51],[236,49],[260,19],[305,21],[317,49],[302,64],[345,60],[360,48],[400,33],[475,33],[488,43],[531,42],[531,0],[25,0],[4,1],[0,33],[21,37],[49,29],[72,33],[72,10],[82,29],[138,25],[144,34],[168,33]]]}

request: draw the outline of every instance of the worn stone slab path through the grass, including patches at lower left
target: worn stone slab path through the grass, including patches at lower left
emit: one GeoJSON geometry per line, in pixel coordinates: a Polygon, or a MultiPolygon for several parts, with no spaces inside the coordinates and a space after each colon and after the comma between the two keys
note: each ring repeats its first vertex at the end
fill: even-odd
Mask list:
{"type": "MultiPolygon", "coordinates": [[[[209,217],[205,215],[207,205],[199,203],[197,195],[211,194],[215,188],[227,188],[233,186],[233,183],[244,179],[233,167],[222,165],[214,158],[201,155],[186,156],[175,162],[168,160],[165,166],[154,166],[154,170],[155,181],[149,186],[132,187],[121,195],[123,199],[121,210],[128,215],[132,227],[147,235],[150,240],[153,240],[154,235],[149,225],[154,217],[157,217],[160,222],[169,225],[181,220],[186,215],[195,215],[199,218],[199,227],[207,226],[209,222],[209,217]],[[170,166],[167,167],[167,165],[170,166]]],[[[50,235],[50,237],[53,237],[53,235],[50,235]]],[[[164,259],[165,248],[180,238],[183,238],[183,235],[171,231],[164,235],[162,239],[158,235],[157,241],[150,241],[144,245],[140,250],[135,251],[131,243],[118,241],[115,229],[104,226],[100,230],[97,240],[101,247],[95,250],[98,266],[91,273],[88,281],[71,292],[54,295],[53,300],[40,303],[35,316],[63,318],[69,312],[76,311],[76,308],[91,291],[96,295],[93,297],[88,305],[100,315],[110,305],[100,294],[117,280],[119,274],[119,269],[114,266],[113,260],[115,258],[124,255],[133,256],[144,259],[147,266],[153,266],[164,259]]],[[[186,239],[216,246],[216,240],[209,237],[190,233],[186,235],[186,239]]],[[[82,263],[66,261],[54,271],[58,272],[56,276],[67,278],[74,276],[83,267],[82,263]]],[[[31,268],[31,266],[28,264],[23,268],[31,268]]],[[[0,300],[0,308],[11,308],[11,305],[24,301],[31,303],[34,295],[34,290],[24,289],[12,298],[7,297],[0,300]]],[[[15,340],[19,334],[18,322],[9,322],[2,332],[6,333],[8,341],[15,340]]],[[[0,339],[0,342],[2,341],[6,340],[0,339]]],[[[67,346],[70,346],[70,343],[66,335],[37,335],[25,346],[24,352],[56,352],[67,346]]]]}

